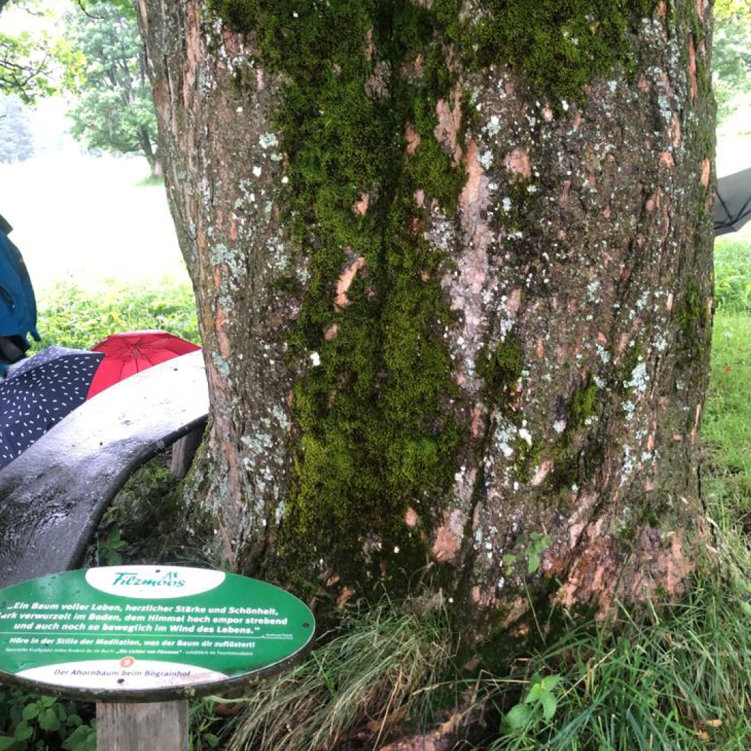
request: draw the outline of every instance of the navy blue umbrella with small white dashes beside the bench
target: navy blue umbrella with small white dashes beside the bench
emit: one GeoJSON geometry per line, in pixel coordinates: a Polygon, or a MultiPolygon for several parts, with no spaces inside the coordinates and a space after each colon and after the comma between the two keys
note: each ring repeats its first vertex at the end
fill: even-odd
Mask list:
{"type": "Polygon", "coordinates": [[[86,401],[104,354],[48,347],[0,381],[0,469],[86,401]]]}

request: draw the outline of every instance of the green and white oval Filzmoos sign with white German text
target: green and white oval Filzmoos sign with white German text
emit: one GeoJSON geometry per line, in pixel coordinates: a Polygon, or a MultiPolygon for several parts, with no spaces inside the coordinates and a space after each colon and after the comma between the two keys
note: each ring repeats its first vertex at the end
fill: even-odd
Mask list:
{"type": "Polygon", "coordinates": [[[0,682],[90,700],[210,693],[281,668],[314,631],[303,602],[235,574],[184,566],[65,572],[0,591],[0,682]]]}

